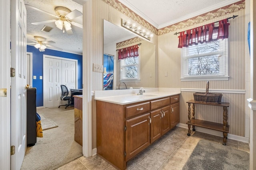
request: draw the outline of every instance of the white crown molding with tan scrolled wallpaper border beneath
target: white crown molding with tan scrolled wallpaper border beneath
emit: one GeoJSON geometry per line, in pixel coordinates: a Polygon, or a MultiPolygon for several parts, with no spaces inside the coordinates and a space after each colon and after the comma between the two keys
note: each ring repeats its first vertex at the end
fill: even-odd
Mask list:
{"type": "Polygon", "coordinates": [[[142,14],[142,12],[136,10],[136,8],[132,6],[127,0],[120,0],[120,1],[102,0],[102,1],[106,2],[108,5],[112,6],[122,14],[125,14],[126,16],[136,21],[137,23],[139,23],[140,25],[142,25],[143,27],[150,30],[152,33],[156,35],[163,35],[172,31],[176,31],[178,29],[182,29],[194,24],[211,20],[215,17],[224,16],[228,13],[236,12],[238,10],[242,10],[245,8],[245,0],[228,0],[216,6],[212,6],[202,11],[193,13],[189,16],[178,18],[177,20],[171,21],[163,25],[157,25],[156,23],[154,23],[154,21],[150,20],[150,18],[142,14]],[[121,2],[123,2],[124,4],[121,2]],[[223,7],[220,8],[220,6],[223,6],[223,7]],[[203,12],[205,13],[202,14],[203,12]],[[191,16],[194,16],[194,17],[191,17],[191,16]],[[186,18],[189,18],[189,19],[186,20],[186,18]],[[162,28],[158,29],[158,27],[162,27],[162,28]]]}

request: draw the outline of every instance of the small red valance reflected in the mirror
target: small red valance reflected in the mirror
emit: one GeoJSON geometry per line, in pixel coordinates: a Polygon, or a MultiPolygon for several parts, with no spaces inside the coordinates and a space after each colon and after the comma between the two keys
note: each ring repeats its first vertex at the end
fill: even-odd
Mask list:
{"type": "Polygon", "coordinates": [[[130,47],[126,47],[118,50],[118,60],[126,59],[129,57],[138,57],[138,45],[132,45],[130,47]]]}

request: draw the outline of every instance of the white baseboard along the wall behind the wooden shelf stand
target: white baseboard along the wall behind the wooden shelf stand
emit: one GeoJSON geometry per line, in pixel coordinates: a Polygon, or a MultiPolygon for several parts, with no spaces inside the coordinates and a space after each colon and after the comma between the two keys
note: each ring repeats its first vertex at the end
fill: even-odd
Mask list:
{"type": "MultiPolygon", "coordinates": [[[[179,123],[177,126],[188,129],[188,125],[187,124],[179,123]]],[[[210,135],[215,135],[215,136],[223,137],[223,133],[220,132],[220,131],[216,131],[216,130],[212,130],[212,129],[207,129],[207,128],[204,128],[204,127],[197,127],[197,126],[196,126],[195,129],[198,132],[203,132],[203,133],[207,133],[207,134],[210,134],[210,135]]],[[[190,130],[192,131],[192,126],[191,126],[190,130]]],[[[249,138],[241,137],[241,136],[237,136],[237,135],[232,135],[230,133],[228,133],[228,139],[232,139],[232,140],[236,140],[236,141],[240,141],[240,142],[244,142],[244,143],[249,143],[249,138]]]]}

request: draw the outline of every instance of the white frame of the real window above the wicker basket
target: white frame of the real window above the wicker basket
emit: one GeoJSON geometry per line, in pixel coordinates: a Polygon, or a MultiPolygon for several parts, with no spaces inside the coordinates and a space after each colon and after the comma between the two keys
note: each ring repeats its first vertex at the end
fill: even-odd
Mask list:
{"type": "Polygon", "coordinates": [[[184,47],[181,49],[181,62],[180,62],[180,80],[181,81],[205,81],[205,80],[228,80],[229,74],[228,74],[228,38],[227,39],[220,39],[220,49],[222,51],[220,52],[213,52],[213,53],[208,53],[210,55],[216,55],[220,54],[221,55],[221,61],[220,65],[220,72],[222,71],[223,73],[221,75],[188,75],[188,62],[187,59],[189,58],[195,58],[196,56],[198,57],[204,57],[204,56],[210,56],[210,55],[205,55],[205,54],[200,54],[200,55],[192,55],[188,56],[187,51],[189,47],[184,47]]]}

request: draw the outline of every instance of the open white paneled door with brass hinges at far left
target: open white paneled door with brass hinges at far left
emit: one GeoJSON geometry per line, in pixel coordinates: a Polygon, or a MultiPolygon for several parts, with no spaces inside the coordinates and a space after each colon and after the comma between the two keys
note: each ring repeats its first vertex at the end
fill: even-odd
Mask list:
{"type": "Polygon", "coordinates": [[[26,8],[23,0],[11,0],[11,169],[19,170],[26,150],[26,8]]]}

